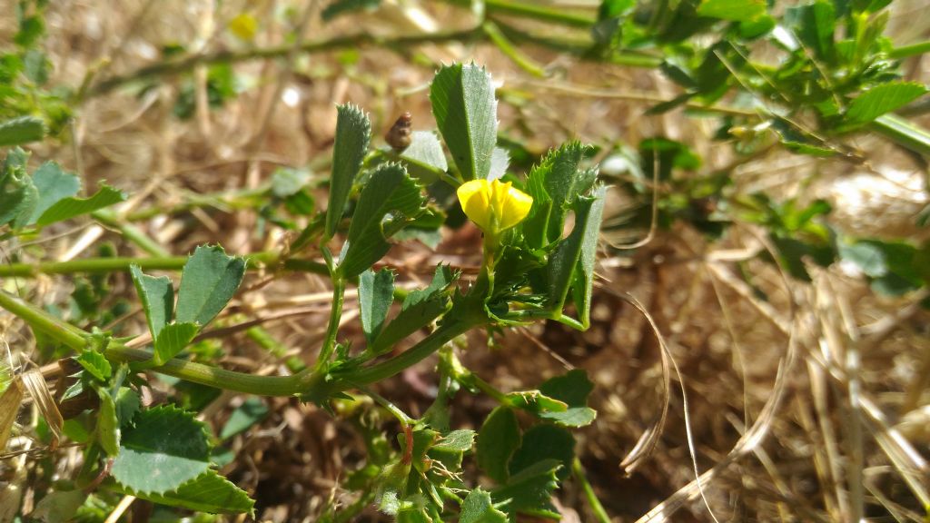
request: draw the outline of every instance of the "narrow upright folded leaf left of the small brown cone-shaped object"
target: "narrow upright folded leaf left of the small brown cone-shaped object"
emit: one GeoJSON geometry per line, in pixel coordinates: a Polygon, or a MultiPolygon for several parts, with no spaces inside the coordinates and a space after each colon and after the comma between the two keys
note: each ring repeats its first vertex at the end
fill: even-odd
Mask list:
{"type": "Polygon", "coordinates": [[[365,112],[351,103],[339,105],[336,111],[336,142],[329,180],[329,206],[326,208],[327,239],[336,234],[352,183],[362,168],[368,142],[371,141],[371,122],[365,112]]]}

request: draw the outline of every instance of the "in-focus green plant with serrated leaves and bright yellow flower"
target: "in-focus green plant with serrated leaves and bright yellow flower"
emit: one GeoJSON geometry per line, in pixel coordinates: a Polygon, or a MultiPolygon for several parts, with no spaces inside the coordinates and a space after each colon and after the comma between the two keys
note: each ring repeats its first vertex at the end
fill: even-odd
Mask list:
{"type": "MultiPolygon", "coordinates": [[[[0,306],[29,323],[36,335],[60,344],[56,354],[71,369],[61,408],[88,396],[97,405],[77,409],[64,422],[62,434],[55,435],[84,448],[84,465],[71,478],[71,489],[62,486],[55,494],[59,502],[72,493],[80,502],[82,489],[104,489],[208,513],[251,511],[246,492],[214,468],[217,439],[192,411],[172,405],[141,408],[140,388],[153,374],[163,374],[251,395],[297,396],[334,413],[338,403],[356,399],[352,394],[372,397],[400,423],[398,445],[373,451],[365,469],[350,474],[350,482],[361,492],[358,506],[377,503],[399,521],[442,521],[456,512],[461,521],[507,521],[521,513],[559,516],[550,496],[573,468],[574,437],[568,429],[594,420],[595,412],[586,406],[591,382],[575,370],[540,383],[538,390],[504,393],[462,366],[454,342],[473,329],[493,335],[541,319],[587,328],[604,187],[596,182],[596,168],[585,164],[590,149],[577,142],[551,151],[525,181],[509,173],[506,155],[496,150],[497,101],[484,69],[473,64],[442,68],[430,98],[453,168],[431,132],[415,133],[399,153],[370,151],[365,113],[352,105],[339,106],[329,204],[287,253],[246,260],[219,247],[197,248],[183,262],[177,295],[169,277],[147,275],[132,261],[121,265],[131,275],[144,310],[149,348],[130,348],[133,337],[80,329],[0,292],[0,306]],[[459,196],[485,232],[485,263],[473,281],[440,265],[427,288],[401,293],[390,268],[374,271],[372,266],[406,227],[435,229],[442,223],[432,219],[442,210],[425,192],[423,180],[431,175],[439,180],[433,183],[472,187],[459,189],[459,196]],[[574,213],[575,221],[563,237],[568,213],[574,213]],[[341,248],[334,256],[328,246],[338,236],[341,248]],[[300,250],[312,249],[326,262],[312,270],[326,274],[333,287],[326,336],[312,366],[290,376],[255,376],[214,367],[209,352],[195,350],[195,337],[233,299],[249,266],[287,267],[300,250]],[[367,341],[362,348],[339,339],[344,294],[352,286],[358,288],[367,341]],[[399,312],[389,318],[395,299],[400,299],[399,312]],[[565,315],[568,302],[574,302],[577,318],[565,315]],[[392,355],[421,329],[431,332],[392,355]],[[411,418],[371,389],[437,353],[440,394],[421,418],[411,418]],[[459,391],[498,402],[480,430],[450,426],[449,404],[459,391]],[[521,426],[518,410],[533,421],[521,426]],[[464,476],[467,455],[473,455],[495,487],[475,487],[464,476]],[[375,474],[372,467],[382,472],[375,474]]],[[[87,199],[75,198],[73,175],[46,164],[30,176],[26,159],[15,150],[4,164],[9,211],[2,222],[7,236],[32,235],[36,227],[123,198],[109,187],[87,199]]],[[[259,419],[254,410],[247,412],[237,422],[246,427],[259,419]]],[[[224,429],[221,436],[237,430],[243,429],[224,429]]],[[[72,504],[74,510],[80,506],[72,504]]],[[[334,511],[330,517],[345,520],[351,511],[334,511]]]]}

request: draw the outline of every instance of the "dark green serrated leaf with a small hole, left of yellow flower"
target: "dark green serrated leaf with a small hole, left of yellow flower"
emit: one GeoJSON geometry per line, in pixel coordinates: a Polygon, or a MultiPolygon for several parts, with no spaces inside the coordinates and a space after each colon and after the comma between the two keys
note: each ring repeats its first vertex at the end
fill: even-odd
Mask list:
{"type": "Polygon", "coordinates": [[[394,233],[423,211],[419,184],[399,164],[382,164],[362,189],[339,257],[339,273],[352,278],[387,254],[394,233]]]}

